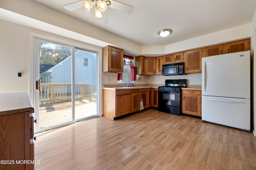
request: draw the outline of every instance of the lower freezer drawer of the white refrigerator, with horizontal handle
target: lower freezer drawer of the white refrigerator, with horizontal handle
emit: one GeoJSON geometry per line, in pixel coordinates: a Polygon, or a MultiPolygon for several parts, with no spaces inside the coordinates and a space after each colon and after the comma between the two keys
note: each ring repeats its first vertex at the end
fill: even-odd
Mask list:
{"type": "Polygon", "coordinates": [[[202,96],[202,120],[250,131],[250,99],[202,96]]]}

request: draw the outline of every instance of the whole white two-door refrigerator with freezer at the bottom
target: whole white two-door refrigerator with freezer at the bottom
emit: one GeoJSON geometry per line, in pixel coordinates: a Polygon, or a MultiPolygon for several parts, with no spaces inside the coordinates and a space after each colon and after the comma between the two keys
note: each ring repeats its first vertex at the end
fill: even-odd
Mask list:
{"type": "Polygon", "coordinates": [[[202,121],[250,131],[250,51],[202,58],[202,121]]]}

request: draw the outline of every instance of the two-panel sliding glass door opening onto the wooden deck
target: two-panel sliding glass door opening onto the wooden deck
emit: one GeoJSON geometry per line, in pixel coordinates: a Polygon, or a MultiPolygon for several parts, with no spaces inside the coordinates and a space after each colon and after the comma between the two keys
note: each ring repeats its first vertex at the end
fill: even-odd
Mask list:
{"type": "Polygon", "coordinates": [[[98,54],[36,41],[36,131],[98,116],[98,54]]]}

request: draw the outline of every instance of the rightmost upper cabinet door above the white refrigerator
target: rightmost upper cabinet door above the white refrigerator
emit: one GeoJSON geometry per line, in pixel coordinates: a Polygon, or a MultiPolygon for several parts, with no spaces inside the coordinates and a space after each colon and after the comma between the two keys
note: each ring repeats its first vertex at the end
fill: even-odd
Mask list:
{"type": "Polygon", "coordinates": [[[250,50],[250,39],[227,43],[227,53],[236,53],[250,50]]]}

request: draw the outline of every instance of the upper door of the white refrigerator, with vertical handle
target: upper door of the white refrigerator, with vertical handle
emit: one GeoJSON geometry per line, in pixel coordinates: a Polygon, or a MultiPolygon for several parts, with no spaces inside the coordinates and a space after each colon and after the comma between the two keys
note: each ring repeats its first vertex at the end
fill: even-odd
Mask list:
{"type": "Polygon", "coordinates": [[[202,95],[250,98],[250,51],[202,58],[202,95]]]}

